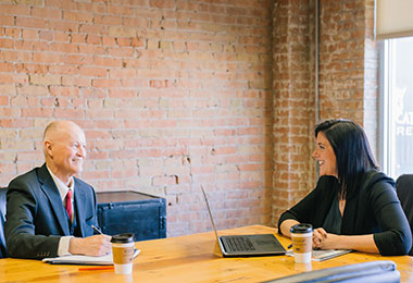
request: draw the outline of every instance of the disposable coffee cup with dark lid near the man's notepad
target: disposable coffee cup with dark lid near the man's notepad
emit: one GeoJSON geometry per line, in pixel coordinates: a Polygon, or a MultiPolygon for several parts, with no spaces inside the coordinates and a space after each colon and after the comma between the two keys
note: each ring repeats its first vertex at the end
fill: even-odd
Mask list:
{"type": "Polygon", "coordinates": [[[112,239],[113,263],[116,274],[130,274],[134,260],[134,234],[124,233],[113,235],[112,239]]]}

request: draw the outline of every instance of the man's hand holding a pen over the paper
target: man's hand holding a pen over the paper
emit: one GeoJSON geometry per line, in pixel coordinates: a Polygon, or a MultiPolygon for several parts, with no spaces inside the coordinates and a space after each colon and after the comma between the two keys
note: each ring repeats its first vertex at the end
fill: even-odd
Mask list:
{"type": "Polygon", "coordinates": [[[73,237],[68,245],[72,255],[104,256],[111,253],[111,236],[95,235],[90,237],[73,237]]]}

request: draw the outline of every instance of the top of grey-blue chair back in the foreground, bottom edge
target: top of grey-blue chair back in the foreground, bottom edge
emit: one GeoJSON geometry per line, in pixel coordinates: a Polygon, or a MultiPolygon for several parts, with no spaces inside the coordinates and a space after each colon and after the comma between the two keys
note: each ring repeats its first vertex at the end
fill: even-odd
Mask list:
{"type": "Polygon", "coordinates": [[[266,283],[297,283],[297,282],[375,282],[396,283],[400,282],[400,273],[396,269],[396,263],[390,260],[371,261],[309,271],[296,275],[285,276],[266,283]]]}

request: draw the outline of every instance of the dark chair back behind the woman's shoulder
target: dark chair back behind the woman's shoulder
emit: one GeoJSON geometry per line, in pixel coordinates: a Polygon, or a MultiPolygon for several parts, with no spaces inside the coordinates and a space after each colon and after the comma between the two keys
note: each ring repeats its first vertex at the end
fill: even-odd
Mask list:
{"type": "MultiPolygon", "coordinates": [[[[396,190],[413,233],[413,174],[400,175],[396,181],[396,190]]],[[[409,256],[413,256],[413,248],[409,256]]]]}

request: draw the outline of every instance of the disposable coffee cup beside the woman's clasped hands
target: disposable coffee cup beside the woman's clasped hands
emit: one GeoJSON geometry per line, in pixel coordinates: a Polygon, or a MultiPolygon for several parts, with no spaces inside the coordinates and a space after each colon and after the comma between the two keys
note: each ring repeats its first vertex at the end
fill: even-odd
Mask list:
{"type": "Polygon", "coordinates": [[[311,262],[313,250],[313,226],[311,224],[297,224],[290,229],[293,258],[296,262],[311,262]]]}

